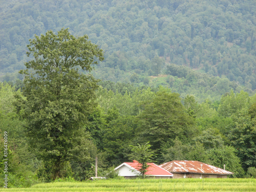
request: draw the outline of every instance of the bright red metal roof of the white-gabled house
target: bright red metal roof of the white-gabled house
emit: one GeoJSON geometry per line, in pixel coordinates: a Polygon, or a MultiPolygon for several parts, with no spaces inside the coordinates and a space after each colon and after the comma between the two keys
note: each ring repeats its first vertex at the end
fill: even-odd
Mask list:
{"type": "MultiPolygon", "coordinates": [[[[136,170],[139,170],[141,168],[141,165],[137,161],[133,161],[133,163],[125,163],[125,164],[130,165],[136,170]]],[[[173,176],[172,173],[166,171],[165,169],[159,167],[154,163],[147,163],[147,165],[149,165],[149,167],[147,168],[148,171],[145,173],[145,175],[173,176]]]]}

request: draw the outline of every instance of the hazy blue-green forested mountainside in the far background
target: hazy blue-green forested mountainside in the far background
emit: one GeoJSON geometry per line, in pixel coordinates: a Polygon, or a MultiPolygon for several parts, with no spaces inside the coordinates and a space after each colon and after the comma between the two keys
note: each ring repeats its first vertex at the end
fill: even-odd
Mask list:
{"type": "Polygon", "coordinates": [[[160,84],[200,101],[220,99],[230,88],[250,92],[256,88],[255,12],[254,1],[4,1],[0,76],[23,79],[17,71],[28,60],[28,39],[65,27],[73,35],[88,34],[105,51],[96,78],[160,84]],[[197,70],[196,77],[174,73],[170,63],[197,70]],[[200,78],[204,73],[212,85],[200,78]],[[153,78],[159,74],[168,76],[153,78]],[[211,75],[225,75],[229,81],[221,81],[228,86],[216,89],[221,82],[211,75]]]}

